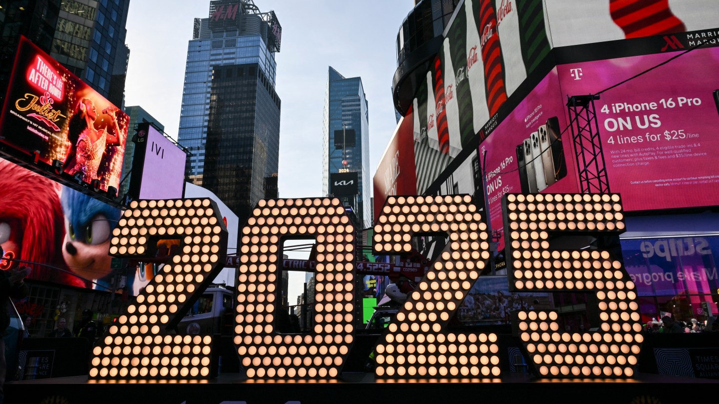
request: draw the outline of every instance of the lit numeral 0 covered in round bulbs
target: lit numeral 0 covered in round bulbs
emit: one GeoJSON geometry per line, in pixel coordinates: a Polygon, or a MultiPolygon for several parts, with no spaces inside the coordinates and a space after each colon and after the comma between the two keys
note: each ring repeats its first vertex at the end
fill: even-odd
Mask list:
{"type": "Polygon", "coordinates": [[[355,229],[337,198],[262,200],[242,228],[234,344],[250,378],[336,377],[354,341],[355,229]],[[315,237],[311,334],[277,334],[283,239],[315,237]]]}

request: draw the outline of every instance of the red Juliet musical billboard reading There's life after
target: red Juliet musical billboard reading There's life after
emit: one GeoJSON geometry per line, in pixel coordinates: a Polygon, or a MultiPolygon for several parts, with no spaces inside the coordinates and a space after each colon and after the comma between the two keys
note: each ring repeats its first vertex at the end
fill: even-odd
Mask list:
{"type": "Polygon", "coordinates": [[[21,37],[0,120],[5,155],[95,190],[116,190],[128,122],[127,114],[21,37]]]}

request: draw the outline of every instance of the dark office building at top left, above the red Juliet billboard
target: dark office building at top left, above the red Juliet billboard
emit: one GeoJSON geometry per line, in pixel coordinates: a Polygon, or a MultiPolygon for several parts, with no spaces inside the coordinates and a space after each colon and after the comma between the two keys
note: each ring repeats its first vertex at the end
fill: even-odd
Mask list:
{"type": "Polygon", "coordinates": [[[7,6],[0,8],[0,81],[9,79],[10,62],[19,36],[24,35],[112,104],[122,107],[129,57],[125,45],[129,3],[7,1],[7,6]]]}

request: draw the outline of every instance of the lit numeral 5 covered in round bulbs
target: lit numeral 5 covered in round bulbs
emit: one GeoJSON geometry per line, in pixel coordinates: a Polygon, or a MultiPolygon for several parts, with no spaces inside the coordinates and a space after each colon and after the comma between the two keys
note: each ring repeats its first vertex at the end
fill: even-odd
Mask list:
{"type": "Polygon", "coordinates": [[[620,234],[618,194],[508,194],[503,201],[513,291],[595,293],[599,330],[559,330],[557,313],[518,311],[513,325],[543,377],[632,377],[641,342],[636,286],[603,250],[551,250],[555,234],[620,234]]]}

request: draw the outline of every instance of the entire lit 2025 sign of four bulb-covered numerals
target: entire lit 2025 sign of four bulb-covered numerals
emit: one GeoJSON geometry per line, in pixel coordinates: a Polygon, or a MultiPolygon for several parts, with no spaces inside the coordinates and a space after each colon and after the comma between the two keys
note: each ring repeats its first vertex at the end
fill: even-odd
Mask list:
{"type": "MultiPolygon", "coordinates": [[[[114,230],[110,252],[150,257],[157,239],[179,239],[170,258],[93,348],[93,379],[210,377],[211,336],[176,335],[198,293],[224,266],[226,228],[209,199],[135,201],[114,230]]],[[[551,246],[558,235],[624,231],[617,194],[508,194],[503,199],[510,290],[590,293],[600,325],[559,330],[557,313],[518,311],[513,324],[536,373],[544,377],[631,377],[642,335],[635,286],[603,250],[551,246]]],[[[354,339],[355,231],[336,198],[258,203],[242,228],[234,345],[247,377],[337,377],[354,339]],[[313,329],[278,334],[280,245],[316,239],[313,329]]],[[[421,234],[449,237],[375,346],[383,378],[498,377],[497,335],[454,333],[447,323],[490,257],[486,225],[470,196],[389,197],[374,228],[378,254],[411,251],[421,234]]]]}

